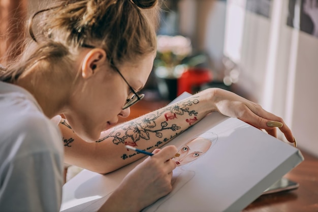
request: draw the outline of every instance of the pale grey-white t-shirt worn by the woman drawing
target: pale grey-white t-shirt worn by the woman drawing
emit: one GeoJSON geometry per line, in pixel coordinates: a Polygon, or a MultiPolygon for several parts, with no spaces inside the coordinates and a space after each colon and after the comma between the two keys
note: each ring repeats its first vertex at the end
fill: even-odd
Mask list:
{"type": "Polygon", "coordinates": [[[0,211],[59,211],[61,134],[26,90],[0,81],[0,211]]]}

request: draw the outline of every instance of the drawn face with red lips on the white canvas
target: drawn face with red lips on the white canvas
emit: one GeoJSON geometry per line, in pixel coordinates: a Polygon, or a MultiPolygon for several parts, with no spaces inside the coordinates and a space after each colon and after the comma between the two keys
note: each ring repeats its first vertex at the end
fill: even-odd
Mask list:
{"type": "Polygon", "coordinates": [[[180,156],[174,158],[177,166],[192,162],[203,155],[210,148],[212,141],[206,138],[197,137],[184,144],[178,151],[180,156]]]}

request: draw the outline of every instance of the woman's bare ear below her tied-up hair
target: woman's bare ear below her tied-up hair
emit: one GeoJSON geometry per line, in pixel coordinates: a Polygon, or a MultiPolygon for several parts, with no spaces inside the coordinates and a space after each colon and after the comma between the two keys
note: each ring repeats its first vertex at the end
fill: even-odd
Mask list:
{"type": "Polygon", "coordinates": [[[82,64],[82,77],[87,79],[96,73],[99,68],[104,65],[106,60],[106,52],[101,48],[90,50],[84,57],[82,64]]]}

